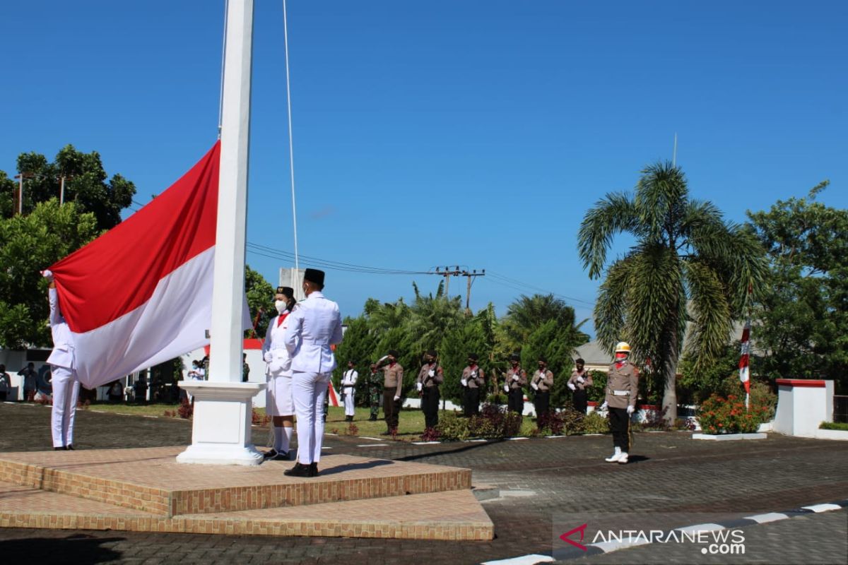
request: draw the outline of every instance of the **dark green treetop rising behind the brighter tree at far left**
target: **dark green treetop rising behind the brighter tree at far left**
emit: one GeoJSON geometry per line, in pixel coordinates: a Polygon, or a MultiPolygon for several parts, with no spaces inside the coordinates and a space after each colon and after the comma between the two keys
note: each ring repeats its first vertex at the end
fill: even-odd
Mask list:
{"type": "MultiPolygon", "coordinates": [[[[63,147],[52,163],[40,153],[21,153],[18,171],[25,175],[24,213],[30,213],[39,202],[59,198],[60,179],[64,176],[64,202],[75,202],[81,212],[93,213],[98,230],[120,224],[121,210],[132,203],[136,194],[136,186],[120,174],[109,178],[98,152],[79,152],[72,145],[63,147]]],[[[0,211],[8,218],[5,202],[14,198],[18,185],[5,182],[3,176],[0,175],[0,211]]]]}

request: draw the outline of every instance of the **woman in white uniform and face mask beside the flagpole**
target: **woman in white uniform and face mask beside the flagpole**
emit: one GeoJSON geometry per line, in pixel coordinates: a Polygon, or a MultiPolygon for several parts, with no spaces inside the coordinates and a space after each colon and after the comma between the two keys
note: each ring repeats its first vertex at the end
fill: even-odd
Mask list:
{"type": "Polygon", "coordinates": [[[289,357],[282,335],[287,328],[286,319],[295,307],[294,290],[288,286],[276,287],[277,315],[268,324],[262,357],[265,359],[265,377],[268,389],[265,396],[265,413],[273,417],[274,447],[265,453],[265,460],[287,461],[288,447],[292,441],[294,402],[292,399],[292,358],[289,357]]]}

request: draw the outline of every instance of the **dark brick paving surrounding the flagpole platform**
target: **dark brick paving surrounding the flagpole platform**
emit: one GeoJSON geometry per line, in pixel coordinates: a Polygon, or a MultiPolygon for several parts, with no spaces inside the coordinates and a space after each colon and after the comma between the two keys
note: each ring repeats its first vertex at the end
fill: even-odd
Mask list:
{"type": "MultiPolygon", "coordinates": [[[[267,429],[254,428],[265,445],[267,429]]],[[[75,445],[94,449],[187,445],[191,425],[166,418],[80,411],[75,445]]],[[[845,444],[769,435],[767,440],[706,442],[689,433],[635,435],[626,466],[605,463],[608,436],[416,446],[327,436],[328,453],[471,468],[491,541],[152,534],[70,529],[0,529],[3,562],[477,563],[527,554],[550,556],[553,519],[568,512],[761,514],[848,498],[845,444]],[[7,561],[7,559],[10,559],[7,561]]],[[[50,449],[49,409],[0,404],[0,451],[50,449]]],[[[281,466],[282,468],[285,466],[281,466]]],[[[185,466],[181,481],[206,468],[185,466]]],[[[266,472],[266,471],[265,471],[266,472]]],[[[374,512],[380,505],[374,504],[374,512]]],[[[746,528],[745,558],[704,562],[846,562],[848,510],[746,528]],[[756,542],[756,543],[755,543],[756,542]],[[778,543],[779,542],[779,543],[778,543]],[[759,545],[756,545],[759,544],[759,545]],[[842,544],[842,545],[840,545],[842,544]],[[836,557],[834,557],[836,556],[836,557]]],[[[342,517],[343,518],[343,517],[342,517]]],[[[692,562],[680,547],[652,546],[584,557],[585,562],[692,562]],[[676,553],[677,551],[677,553],[676,553]]],[[[550,558],[550,557],[549,557],[550,558]]]]}

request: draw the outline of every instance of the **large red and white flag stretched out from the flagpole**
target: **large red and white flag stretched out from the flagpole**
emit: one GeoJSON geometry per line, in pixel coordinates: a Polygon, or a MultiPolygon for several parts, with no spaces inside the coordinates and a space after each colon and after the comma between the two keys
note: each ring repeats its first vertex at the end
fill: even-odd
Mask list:
{"type": "Polygon", "coordinates": [[[209,343],[219,164],[220,141],[167,191],[50,267],[82,385],[209,343]]]}

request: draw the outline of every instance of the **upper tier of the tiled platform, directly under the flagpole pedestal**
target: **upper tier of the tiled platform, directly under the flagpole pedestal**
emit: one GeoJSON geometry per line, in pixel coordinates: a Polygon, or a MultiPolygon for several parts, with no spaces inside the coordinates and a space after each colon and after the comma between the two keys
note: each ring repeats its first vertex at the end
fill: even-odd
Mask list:
{"type": "Polygon", "coordinates": [[[293,462],[255,467],[176,463],[182,446],[0,454],[0,481],[173,517],[358,501],[471,488],[471,470],[328,455],[321,475],[287,477],[293,462]]]}

